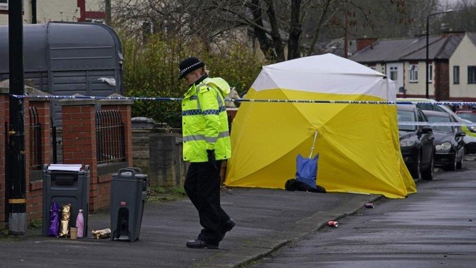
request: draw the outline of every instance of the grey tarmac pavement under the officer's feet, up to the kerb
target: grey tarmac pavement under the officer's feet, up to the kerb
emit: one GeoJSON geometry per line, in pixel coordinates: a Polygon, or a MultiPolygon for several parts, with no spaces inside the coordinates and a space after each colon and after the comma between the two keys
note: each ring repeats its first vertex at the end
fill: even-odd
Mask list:
{"type": "MultiPolygon", "coordinates": [[[[0,267],[237,267],[298,241],[328,220],[352,214],[378,198],[271,189],[224,191],[221,204],[237,225],[218,250],[185,247],[201,229],[189,200],[146,204],[136,242],[92,237],[74,241],[29,231],[17,241],[0,239],[0,267]]],[[[90,230],[109,225],[108,212],[89,216],[90,230]]]]}

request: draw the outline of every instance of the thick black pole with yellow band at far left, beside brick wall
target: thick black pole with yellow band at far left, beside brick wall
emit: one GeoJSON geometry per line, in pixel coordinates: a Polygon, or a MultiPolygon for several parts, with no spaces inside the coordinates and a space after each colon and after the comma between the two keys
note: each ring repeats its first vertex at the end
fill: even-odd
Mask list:
{"type": "Polygon", "coordinates": [[[23,16],[22,1],[8,1],[8,43],[10,79],[10,131],[8,132],[8,228],[11,234],[26,233],[25,136],[23,99],[23,16]]]}

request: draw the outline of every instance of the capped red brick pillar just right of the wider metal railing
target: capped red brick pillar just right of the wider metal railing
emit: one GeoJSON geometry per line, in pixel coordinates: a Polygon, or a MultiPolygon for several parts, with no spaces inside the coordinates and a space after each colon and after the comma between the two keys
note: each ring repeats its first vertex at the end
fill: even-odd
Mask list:
{"type": "MultiPolygon", "coordinates": [[[[109,97],[123,97],[117,93],[109,97]]],[[[127,165],[132,166],[132,111],[133,100],[99,100],[101,110],[118,110],[124,124],[124,148],[127,165]]]]}

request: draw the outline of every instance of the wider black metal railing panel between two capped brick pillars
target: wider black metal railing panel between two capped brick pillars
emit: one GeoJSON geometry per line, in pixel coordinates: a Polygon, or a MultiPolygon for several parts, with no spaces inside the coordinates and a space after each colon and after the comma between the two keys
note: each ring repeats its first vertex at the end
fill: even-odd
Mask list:
{"type": "Polygon", "coordinates": [[[125,161],[124,136],[124,124],[119,111],[96,111],[98,164],[125,161]]]}

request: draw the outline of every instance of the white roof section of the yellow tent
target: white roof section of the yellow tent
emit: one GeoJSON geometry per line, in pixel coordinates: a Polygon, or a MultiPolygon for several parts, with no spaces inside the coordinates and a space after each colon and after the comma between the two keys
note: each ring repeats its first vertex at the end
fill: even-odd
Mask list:
{"type": "Polygon", "coordinates": [[[257,91],[291,89],[333,94],[372,95],[394,101],[395,84],[360,63],[324,54],[263,66],[251,86],[257,91]]]}

